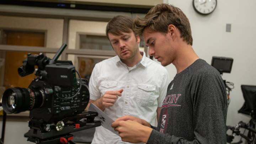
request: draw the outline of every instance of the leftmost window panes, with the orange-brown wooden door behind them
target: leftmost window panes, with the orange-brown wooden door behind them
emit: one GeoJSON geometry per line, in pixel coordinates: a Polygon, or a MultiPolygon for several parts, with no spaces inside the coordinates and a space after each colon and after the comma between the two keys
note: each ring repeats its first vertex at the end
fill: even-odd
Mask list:
{"type": "MultiPolygon", "coordinates": [[[[25,76],[24,80],[22,80],[23,78],[17,73],[17,68],[22,65],[22,60],[29,53],[29,50],[26,52],[26,49],[30,48],[20,46],[42,47],[42,52],[43,47],[59,48],[63,40],[64,20],[0,16],[0,21],[0,44],[3,44],[2,47],[4,45],[12,45],[10,51],[5,48],[5,50],[0,50],[0,86],[6,89],[15,86],[27,87],[34,75],[25,76]]],[[[50,57],[50,54],[46,55],[50,57]]]]}

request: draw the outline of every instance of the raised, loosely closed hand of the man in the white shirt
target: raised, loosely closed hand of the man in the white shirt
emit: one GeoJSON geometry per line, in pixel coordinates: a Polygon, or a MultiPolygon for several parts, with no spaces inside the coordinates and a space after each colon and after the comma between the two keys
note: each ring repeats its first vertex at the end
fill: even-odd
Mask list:
{"type": "Polygon", "coordinates": [[[113,106],[118,96],[122,96],[123,89],[118,91],[106,91],[105,94],[100,98],[102,109],[113,106]]]}

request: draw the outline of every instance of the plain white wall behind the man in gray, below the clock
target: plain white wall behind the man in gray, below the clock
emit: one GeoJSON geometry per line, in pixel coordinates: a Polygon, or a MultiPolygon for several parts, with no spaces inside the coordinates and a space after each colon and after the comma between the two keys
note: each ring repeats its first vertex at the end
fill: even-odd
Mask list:
{"type": "MultiPolygon", "coordinates": [[[[234,126],[239,121],[249,122],[249,117],[238,114],[244,103],[241,85],[256,85],[256,5],[255,0],[218,0],[215,11],[207,16],[197,14],[192,0],[169,0],[169,4],[179,7],[191,23],[193,48],[198,56],[211,63],[212,56],[234,59],[230,74],[223,79],[234,82],[230,93],[227,125],[234,126]],[[231,24],[231,32],[226,32],[226,23],[231,24]]],[[[171,79],[176,74],[174,65],[166,66],[171,79]]]]}

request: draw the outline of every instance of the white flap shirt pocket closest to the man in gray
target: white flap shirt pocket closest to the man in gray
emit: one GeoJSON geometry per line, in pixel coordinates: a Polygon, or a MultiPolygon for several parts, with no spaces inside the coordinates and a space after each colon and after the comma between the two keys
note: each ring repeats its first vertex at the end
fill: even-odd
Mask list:
{"type": "Polygon", "coordinates": [[[138,84],[136,102],[140,106],[151,106],[155,100],[155,85],[138,84]]]}

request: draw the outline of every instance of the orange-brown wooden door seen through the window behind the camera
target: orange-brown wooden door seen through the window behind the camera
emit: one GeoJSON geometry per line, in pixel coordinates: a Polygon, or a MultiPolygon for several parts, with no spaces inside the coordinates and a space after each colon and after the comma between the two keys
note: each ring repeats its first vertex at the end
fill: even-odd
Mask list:
{"type": "MultiPolygon", "coordinates": [[[[43,32],[6,31],[5,36],[7,45],[44,47],[43,32]]],[[[25,77],[18,75],[17,69],[22,65],[22,60],[27,58],[28,53],[30,52],[6,52],[4,74],[4,86],[6,89],[9,87],[27,88],[35,78],[34,74],[25,77]]]]}

